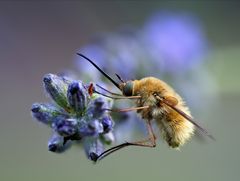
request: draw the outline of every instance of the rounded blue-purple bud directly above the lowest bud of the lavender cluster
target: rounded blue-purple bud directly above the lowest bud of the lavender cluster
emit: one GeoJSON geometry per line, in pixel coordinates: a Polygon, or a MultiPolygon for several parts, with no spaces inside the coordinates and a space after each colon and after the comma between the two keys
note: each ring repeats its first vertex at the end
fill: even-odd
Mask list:
{"type": "Polygon", "coordinates": [[[103,133],[103,125],[98,120],[93,120],[79,129],[81,137],[96,136],[100,133],[103,133]]]}

